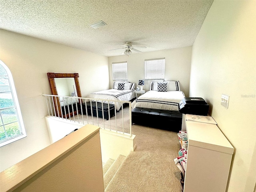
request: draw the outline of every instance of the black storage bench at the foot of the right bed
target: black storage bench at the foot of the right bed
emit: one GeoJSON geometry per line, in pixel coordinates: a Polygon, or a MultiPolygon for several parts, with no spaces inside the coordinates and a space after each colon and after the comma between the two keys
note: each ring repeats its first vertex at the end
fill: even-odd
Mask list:
{"type": "Polygon", "coordinates": [[[178,111],[136,107],[132,109],[132,124],[179,132],[182,114],[178,111]]]}

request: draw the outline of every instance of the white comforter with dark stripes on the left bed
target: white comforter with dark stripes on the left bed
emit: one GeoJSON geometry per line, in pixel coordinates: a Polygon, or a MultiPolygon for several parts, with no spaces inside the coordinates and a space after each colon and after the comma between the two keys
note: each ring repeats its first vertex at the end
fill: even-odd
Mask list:
{"type": "MultiPolygon", "coordinates": [[[[136,97],[135,90],[117,90],[117,89],[98,91],[88,95],[88,98],[117,100],[117,101],[130,101],[135,97],[136,97]]],[[[122,103],[120,102],[109,102],[109,103],[116,104],[116,110],[120,110],[122,106],[122,103]]]]}

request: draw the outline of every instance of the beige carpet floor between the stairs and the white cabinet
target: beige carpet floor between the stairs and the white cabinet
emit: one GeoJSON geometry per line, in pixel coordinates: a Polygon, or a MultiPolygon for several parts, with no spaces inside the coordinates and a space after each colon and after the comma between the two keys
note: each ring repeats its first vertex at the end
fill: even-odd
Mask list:
{"type": "Polygon", "coordinates": [[[177,133],[132,126],[137,148],[126,157],[105,192],[180,192],[180,170],[173,159],[177,133]]]}

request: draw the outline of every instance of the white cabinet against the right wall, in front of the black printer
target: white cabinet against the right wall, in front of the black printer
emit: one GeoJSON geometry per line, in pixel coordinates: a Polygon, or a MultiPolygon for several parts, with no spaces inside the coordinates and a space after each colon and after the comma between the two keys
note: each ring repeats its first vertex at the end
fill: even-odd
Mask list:
{"type": "Polygon", "coordinates": [[[184,192],[225,192],[234,148],[217,125],[186,121],[184,192]]]}

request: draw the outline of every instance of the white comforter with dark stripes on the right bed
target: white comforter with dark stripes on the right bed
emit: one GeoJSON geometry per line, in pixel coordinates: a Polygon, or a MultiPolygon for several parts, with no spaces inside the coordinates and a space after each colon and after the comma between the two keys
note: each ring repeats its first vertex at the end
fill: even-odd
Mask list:
{"type": "Polygon", "coordinates": [[[178,111],[178,104],[184,97],[182,91],[148,91],[132,102],[132,108],[142,107],[178,111]]]}

